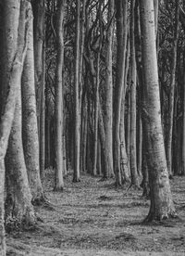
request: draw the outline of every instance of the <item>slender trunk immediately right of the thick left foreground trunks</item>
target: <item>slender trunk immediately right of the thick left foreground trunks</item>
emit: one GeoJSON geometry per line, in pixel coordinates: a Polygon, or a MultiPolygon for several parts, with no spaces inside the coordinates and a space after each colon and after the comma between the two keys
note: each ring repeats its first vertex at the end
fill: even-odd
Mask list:
{"type": "Polygon", "coordinates": [[[45,1],[33,0],[33,37],[34,37],[34,67],[35,67],[35,89],[37,104],[38,134],[40,145],[40,173],[44,175],[45,165],[45,102],[44,102],[44,17],[45,1]]]}

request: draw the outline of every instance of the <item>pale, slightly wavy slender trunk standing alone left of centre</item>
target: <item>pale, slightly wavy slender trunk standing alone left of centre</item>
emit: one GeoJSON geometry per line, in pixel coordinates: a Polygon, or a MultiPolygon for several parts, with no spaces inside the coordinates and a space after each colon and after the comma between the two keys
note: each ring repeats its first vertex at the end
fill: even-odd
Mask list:
{"type": "Polygon", "coordinates": [[[63,61],[64,61],[64,35],[63,19],[66,1],[60,0],[57,9],[57,59],[56,59],[56,182],[55,190],[63,190],[63,61]]]}

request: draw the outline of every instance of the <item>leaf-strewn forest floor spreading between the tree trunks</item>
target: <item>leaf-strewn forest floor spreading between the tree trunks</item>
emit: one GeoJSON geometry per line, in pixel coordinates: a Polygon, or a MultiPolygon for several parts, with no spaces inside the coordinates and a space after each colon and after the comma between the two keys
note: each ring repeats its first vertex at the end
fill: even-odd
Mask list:
{"type": "Polygon", "coordinates": [[[171,181],[179,219],[142,224],[150,201],[142,190],[117,189],[114,181],[81,176],[78,184],[65,180],[63,192],[53,191],[47,171],[45,195],[51,205],[36,207],[37,227],[6,236],[7,255],[136,256],[185,255],[185,178],[171,181]]]}

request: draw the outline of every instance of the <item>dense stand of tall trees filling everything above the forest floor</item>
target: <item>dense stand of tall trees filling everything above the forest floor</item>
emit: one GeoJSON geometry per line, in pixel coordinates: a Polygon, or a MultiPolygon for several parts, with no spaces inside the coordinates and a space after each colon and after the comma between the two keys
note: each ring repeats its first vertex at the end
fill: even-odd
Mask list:
{"type": "Polygon", "coordinates": [[[185,174],[181,0],[0,1],[0,250],[84,174],[142,186],[145,222],[176,218],[185,174]],[[52,171],[51,171],[52,172],[52,171]]]}

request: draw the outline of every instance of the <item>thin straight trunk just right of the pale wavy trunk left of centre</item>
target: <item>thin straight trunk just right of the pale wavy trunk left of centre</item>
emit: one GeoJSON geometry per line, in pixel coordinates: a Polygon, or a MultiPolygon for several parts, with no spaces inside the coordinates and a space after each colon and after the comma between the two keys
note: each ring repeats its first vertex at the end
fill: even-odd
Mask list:
{"type": "Polygon", "coordinates": [[[76,49],[75,49],[75,137],[74,137],[74,174],[73,182],[80,182],[80,102],[79,102],[79,66],[80,66],[80,1],[76,0],[76,49]]]}

